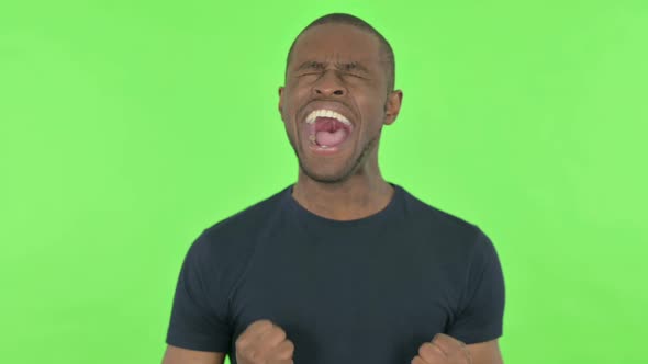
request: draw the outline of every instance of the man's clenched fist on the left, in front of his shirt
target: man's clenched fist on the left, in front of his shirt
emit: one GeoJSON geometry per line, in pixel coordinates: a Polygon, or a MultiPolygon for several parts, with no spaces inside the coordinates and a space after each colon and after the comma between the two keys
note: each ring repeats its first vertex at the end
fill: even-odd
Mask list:
{"type": "Polygon", "coordinates": [[[238,364],[293,364],[294,344],[269,320],[250,323],[236,339],[238,364]]]}

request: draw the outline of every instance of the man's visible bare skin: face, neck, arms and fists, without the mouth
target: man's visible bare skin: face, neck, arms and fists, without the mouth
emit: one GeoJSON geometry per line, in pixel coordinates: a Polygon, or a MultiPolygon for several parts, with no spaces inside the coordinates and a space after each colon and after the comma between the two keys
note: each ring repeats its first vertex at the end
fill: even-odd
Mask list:
{"type": "MultiPolygon", "coordinates": [[[[394,123],[403,93],[390,91],[380,44],[375,35],[345,24],[317,25],[303,33],[279,88],[279,111],[300,170],[293,197],[320,216],[349,220],[384,208],[393,189],[378,167],[384,125],[394,123]],[[304,62],[310,65],[303,66],[304,62]],[[355,65],[350,67],[349,65],[355,65]],[[359,69],[358,65],[361,66],[359,69]],[[335,109],[354,124],[349,144],[339,152],[319,156],[308,148],[303,128],[311,109],[335,109]]],[[[236,339],[239,364],[293,363],[290,333],[268,320],[252,322],[236,339]]],[[[224,353],[169,345],[164,364],[222,364],[224,353]]],[[[498,340],[465,344],[439,333],[421,343],[412,364],[501,364],[498,340]]]]}

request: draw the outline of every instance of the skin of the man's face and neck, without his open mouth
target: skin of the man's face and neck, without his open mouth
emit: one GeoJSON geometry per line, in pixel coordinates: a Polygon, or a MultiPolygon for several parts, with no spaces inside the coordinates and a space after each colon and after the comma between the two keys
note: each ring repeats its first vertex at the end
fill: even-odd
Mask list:
{"type": "Polygon", "coordinates": [[[336,220],[384,208],[393,189],[380,173],[378,146],[384,125],[396,120],[403,93],[388,92],[380,43],[346,24],[323,24],[298,39],[279,88],[279,111],[299,159],[293,197],[306,209],[336,220]],[[304,62],[314,62],[303,67],[304,62]],[[301,68],[301,69],[300,69],[301,68]],[[334,156],[308,149],[304,110],[337,107],[354,123],[349,148],[334,156]]]}

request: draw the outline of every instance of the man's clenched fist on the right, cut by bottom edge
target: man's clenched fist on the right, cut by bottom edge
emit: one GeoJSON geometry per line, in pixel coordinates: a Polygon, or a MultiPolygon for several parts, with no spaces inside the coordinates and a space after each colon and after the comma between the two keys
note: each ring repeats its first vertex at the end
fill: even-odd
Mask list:
{"type": "Polygon", "coordinates": [[[470,351],[461,341],[445,333],[437,333],[432,342],[418,348],[412,364],[471,364],[470,351]]]}

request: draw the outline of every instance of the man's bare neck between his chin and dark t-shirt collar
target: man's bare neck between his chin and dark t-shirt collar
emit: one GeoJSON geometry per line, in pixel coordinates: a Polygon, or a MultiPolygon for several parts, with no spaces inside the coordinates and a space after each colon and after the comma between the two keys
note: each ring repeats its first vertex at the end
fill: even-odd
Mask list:
{"type": "Polygon", "coordinates": [[[373,181],[349,180],[324,184],[300,179],[292,197],[305,209],[334,220],[354,220],[371,216],[389,205],[394,189],[382,178],[373,181]]]}

